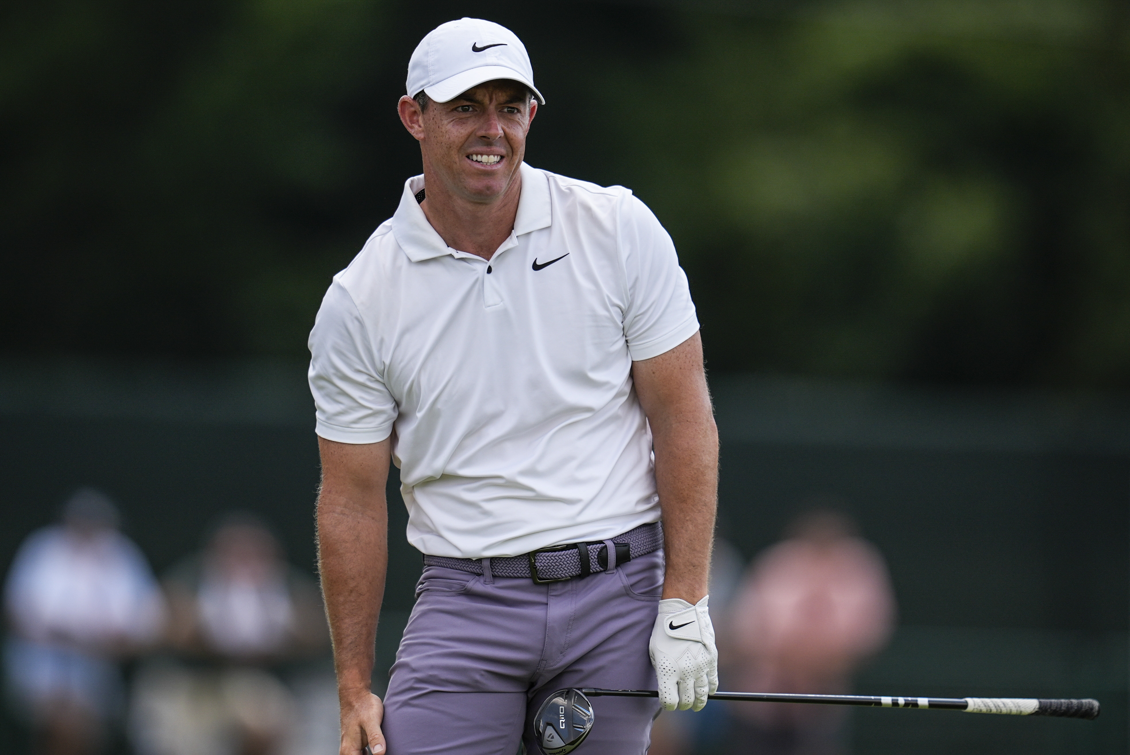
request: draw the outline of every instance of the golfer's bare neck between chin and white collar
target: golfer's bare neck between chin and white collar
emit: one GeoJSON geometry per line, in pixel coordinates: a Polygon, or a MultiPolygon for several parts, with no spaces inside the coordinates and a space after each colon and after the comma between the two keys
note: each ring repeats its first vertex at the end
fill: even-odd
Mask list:
{"type": "Polygon", "coordinates": [[[514,175],[506,191],[494,202],[471,202],[447,191],[443,183],[424,170],[426,194],[420,203],[424,216],[444,244],[489,260],[510,238],[522,195],[522,175],[514,175]]]}

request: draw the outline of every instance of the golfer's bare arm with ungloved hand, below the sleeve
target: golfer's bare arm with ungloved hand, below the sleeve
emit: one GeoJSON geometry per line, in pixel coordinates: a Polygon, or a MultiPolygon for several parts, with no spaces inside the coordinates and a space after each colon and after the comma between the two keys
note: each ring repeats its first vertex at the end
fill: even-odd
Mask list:
{"type": "Polygon", "coordinates": [[[350,445],[319,438],[318,569],[333,640],[341,704],[340,755],[384,752],[381,700],[370,692],[376,620],[389,563],[384,485],[391,440],[350,445]]]}

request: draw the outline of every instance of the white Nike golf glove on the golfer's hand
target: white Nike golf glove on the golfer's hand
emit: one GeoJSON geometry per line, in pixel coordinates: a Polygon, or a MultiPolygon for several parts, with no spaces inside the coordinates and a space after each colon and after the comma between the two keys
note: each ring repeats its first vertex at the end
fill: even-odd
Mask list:
{"type": "Polygon", "coordinates": [[[706,611],[707,595],[696,605],[680,598],[659,602],[651,631],[651,665],[659,679],[659,702],[673,711],[702,710],[718,692],[718,648],[706,611]]]}

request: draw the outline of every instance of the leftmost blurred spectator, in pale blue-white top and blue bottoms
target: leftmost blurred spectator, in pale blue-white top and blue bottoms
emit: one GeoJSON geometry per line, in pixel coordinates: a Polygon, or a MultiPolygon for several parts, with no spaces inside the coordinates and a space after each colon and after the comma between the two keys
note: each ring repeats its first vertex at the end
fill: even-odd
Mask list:
{"type": "Polygon", "coordinates": [[[8,573],[5,667],[38,753],[99,749],[121,708],[119,660],[160,632],[157,581],[116,527],[110,499],[79,490],[63,507],[62,525],[28,536],[8,573]]]}

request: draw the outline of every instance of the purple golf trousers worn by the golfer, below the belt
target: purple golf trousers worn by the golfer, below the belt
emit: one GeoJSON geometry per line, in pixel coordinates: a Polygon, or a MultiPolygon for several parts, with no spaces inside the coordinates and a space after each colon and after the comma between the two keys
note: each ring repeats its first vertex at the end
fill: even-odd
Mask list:
{"type": "MultiPolygon", "coordinates": [[[[654,690],[663,553],[536,585],[426,567],[384,700],[388,755],[515,755],[564,687],[654,690]]],[[[659,701],[594,697],[584,755],[644,755],[659,701]]]]}

